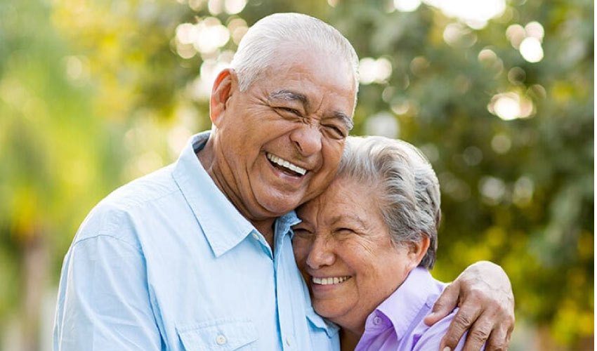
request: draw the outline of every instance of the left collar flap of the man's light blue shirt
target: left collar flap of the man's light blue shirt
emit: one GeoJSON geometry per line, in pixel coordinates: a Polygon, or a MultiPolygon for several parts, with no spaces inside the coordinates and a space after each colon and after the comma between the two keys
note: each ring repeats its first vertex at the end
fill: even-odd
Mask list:
{"type": "Polygon", "coordinates": [[[197,158],[209,131],[193,135],[178,157],[173,178],[192,209],[205,237],[219,257],[255,230],[216,186],[197,158]]]}

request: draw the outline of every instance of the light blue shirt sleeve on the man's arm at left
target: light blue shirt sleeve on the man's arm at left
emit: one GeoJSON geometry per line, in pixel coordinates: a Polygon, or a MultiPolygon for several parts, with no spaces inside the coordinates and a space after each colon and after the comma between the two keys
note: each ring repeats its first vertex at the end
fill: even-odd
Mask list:
{"type": "Polygon", "coordinates": [[[143,253],[110,235],[77,241],[65,257],[54,351],[161,350],[143,253]]]}

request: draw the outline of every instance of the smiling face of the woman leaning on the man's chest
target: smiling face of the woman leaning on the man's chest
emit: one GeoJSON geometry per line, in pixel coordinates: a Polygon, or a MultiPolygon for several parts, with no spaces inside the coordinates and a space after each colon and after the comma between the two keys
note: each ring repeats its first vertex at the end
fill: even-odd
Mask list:
{"type": "Polygon", "coordinates": [[[404,282],[421,256],[391,242],[376,189],[349,178],[334,180],[298,208],[294,256],[313,308],[362,333],[365,319],[404,282]]]}

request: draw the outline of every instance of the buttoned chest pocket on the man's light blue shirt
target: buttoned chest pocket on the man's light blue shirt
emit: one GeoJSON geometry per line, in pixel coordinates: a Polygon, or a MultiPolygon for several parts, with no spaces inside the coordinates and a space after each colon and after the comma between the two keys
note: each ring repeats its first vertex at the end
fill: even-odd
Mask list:
{"type": "Polygon", "coordinates": [[[258,334],[247,319],[217,319],[177,328],[185,351],[256,350],[258,334]]]}

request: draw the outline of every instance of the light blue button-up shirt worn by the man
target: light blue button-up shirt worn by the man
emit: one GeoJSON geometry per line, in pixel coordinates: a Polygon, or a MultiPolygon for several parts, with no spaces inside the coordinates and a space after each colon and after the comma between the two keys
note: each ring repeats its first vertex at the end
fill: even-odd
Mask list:
{"type": "Polygon", "coordinates": [[[197,159],[207,138],[84,220],[63,264],[55,351],[339,350],[294,262],[295,213],[277,219],[272,253],[197,159]]]}

